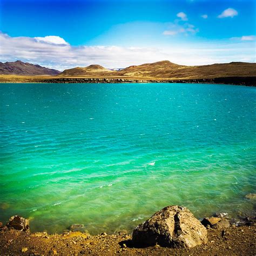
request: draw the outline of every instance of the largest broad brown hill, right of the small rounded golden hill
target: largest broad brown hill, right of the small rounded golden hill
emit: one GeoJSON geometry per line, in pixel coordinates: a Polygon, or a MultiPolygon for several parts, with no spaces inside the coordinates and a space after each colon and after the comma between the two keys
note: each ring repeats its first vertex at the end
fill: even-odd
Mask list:
{"type": "Polygon", "coordinates": [[[164,60],[112,72],[111,76],[149,78],[217,78],[256,76],[256,63],[231,62],[203,66],[184,66],[164,60]]]}

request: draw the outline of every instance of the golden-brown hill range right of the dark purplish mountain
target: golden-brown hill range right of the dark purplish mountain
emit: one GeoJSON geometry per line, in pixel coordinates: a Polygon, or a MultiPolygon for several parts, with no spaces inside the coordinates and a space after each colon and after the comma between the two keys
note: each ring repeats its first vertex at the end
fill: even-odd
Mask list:
{"type": "Polygon", "coordinates": [[[163,60],[138,66],[129,66],[117,71],[109,70],[100,65],[86,68],[64,70],[59,76],[69,77],[139,77],[139,78],[170,78],[198,79],[218,77],[252,77],[256,76],[256,63],[231,62],[202,66],[178,65],[163,60]]]}

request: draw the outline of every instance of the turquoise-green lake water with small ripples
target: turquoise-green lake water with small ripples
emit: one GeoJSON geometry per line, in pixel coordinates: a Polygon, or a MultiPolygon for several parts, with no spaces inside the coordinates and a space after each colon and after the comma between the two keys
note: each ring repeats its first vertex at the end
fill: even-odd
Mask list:
{"type": "Polygon", "coordinates": [[[0,217],[32,231],[131,231],[178,204],[248,214],[256,88],[0,84],[0,217]]]}

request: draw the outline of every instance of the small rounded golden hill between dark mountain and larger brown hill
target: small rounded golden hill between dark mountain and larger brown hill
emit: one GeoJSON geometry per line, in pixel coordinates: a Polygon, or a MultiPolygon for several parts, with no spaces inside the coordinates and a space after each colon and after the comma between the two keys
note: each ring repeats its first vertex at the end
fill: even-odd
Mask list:
{"type": "Polygon", "coordinates": [[[112,70],[106,69],[100,65],[90,65],[85,68],[77,67],[73,69],[66,69],[60,73],[59,76],[101,76],[109,72],[111,73],[112,70]]]}

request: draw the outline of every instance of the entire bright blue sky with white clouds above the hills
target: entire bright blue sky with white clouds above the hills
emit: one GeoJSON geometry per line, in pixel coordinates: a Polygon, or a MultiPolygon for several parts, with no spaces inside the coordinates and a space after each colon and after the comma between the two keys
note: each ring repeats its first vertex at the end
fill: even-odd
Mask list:
{"type": "Polygon", "coordinates": [[[0,61],[255,62],[256,0],[0,0],[0,61]]]}

